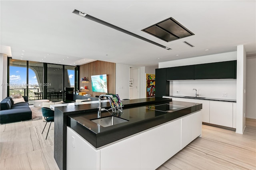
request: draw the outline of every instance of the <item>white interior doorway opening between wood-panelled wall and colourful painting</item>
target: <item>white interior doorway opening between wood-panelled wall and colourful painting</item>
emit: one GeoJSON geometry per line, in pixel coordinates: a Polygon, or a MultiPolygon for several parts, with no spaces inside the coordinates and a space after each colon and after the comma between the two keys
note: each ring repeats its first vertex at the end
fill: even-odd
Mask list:
{"type": "Polygon", "coordinates": [[[140,98],[140,69],[130,67],[130,99],[140,98]]]}

